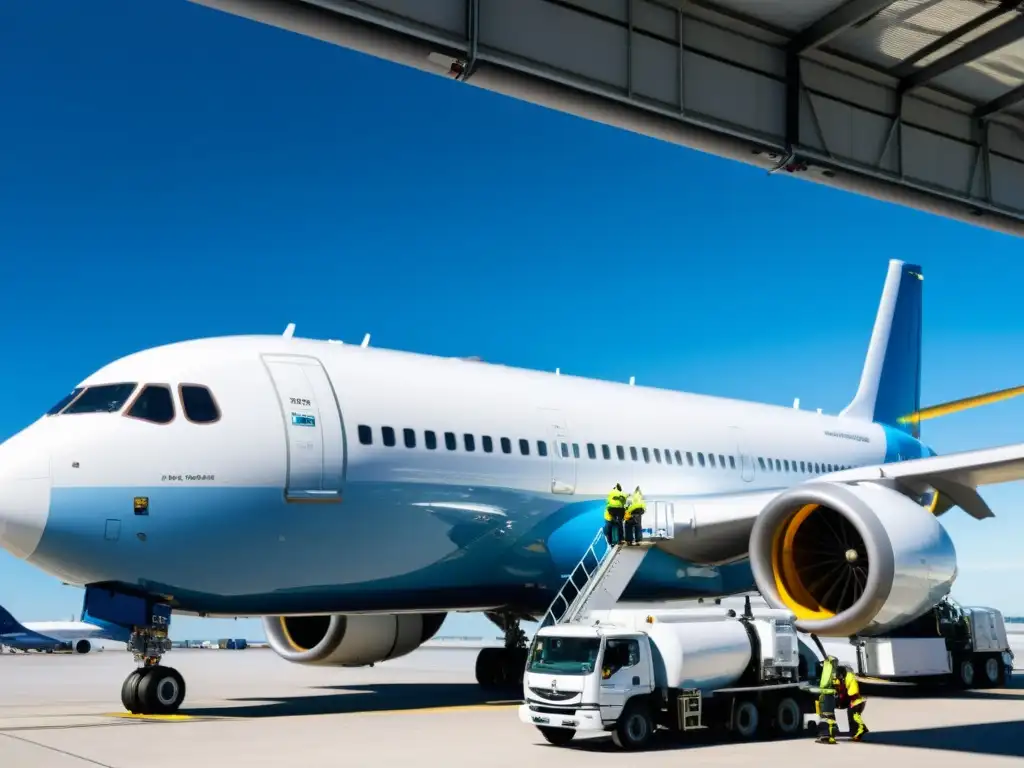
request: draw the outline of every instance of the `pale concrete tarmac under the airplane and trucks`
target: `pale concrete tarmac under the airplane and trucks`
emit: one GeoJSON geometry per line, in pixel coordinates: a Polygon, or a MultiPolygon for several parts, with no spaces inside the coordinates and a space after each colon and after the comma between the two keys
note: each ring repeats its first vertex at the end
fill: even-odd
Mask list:
{"type": "MultiPolygon", "coordinates": [[[[700,743],[659,739],[640,754],[606,736],[547,744],[509,698],[473,681],[475,650],[421,649],[374,668],[291,665],[264,649],[182,650],[165,656],[185,677],[181,713],[127,715],[125,651],[0,654],[3,768],[182,766],[750,766],[1015,765],[1024,757],[1024,675],[1008,690],[925,695],[865,686],[868,741],[700,743]]],[[[841,727],[845,716],[839,713],[841,727]]]]}

